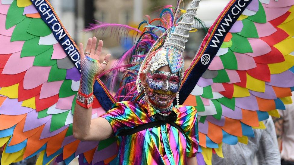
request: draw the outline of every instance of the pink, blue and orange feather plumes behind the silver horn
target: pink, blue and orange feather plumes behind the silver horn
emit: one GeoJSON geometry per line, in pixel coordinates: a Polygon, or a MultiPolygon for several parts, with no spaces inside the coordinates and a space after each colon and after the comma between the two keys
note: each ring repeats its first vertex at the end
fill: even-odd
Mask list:
{"type": "MultiPolygon", "coordinates": [[[[91,24],[86,31],[96,30],[97,32],[105,32],[105,30],[110,29],[111,33],[117,33],[119,39],[124,35],[126,37],[130,31],[136,31],[139,39],[136,43],[127,50],[122,56],[117,60],[115,66],[105,71],[102,75],[108,75],[107,84],[111,91],[117,89],[115,98],[118,101],[132,100],[136,96],[136,77],[139,72],[139,67],[142,60],[145,58],[146,53],[155,43],[160,36],[166,32],[170,27],[176,26],[176,24],[181,20],[183,12],[180,9],[181,0],[177,2],[177,7],[173,8],[171,5],[166,5],[161,9],[159,18],[153,20],[150,19],[149,15],[145,17],[147,20],[142,21],[138,28],[133,28],[127,25],[102,23],[91,24]],[[142,31],[139,29],[144,28],[142,31]],[[117,86],[117,82],[120,84],[117,86]]],[[[204,23],[198,18],[195,19],[197,27],[206,28],[204,23]]],[[[163,43],[163,42],[161,42],[163,43]]],[[[159,47],[158,47],[159,48],[159,47]]]]}

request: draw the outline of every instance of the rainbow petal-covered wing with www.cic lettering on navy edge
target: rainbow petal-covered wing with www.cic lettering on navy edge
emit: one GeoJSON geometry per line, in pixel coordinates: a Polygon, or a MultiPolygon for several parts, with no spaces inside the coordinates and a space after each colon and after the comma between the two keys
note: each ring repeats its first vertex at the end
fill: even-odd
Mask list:
{"type": "Polygon", "coordinates": [[[205,162],[222,142],[247,143],[252,128],[292,103],[294,1],[232,0],[186,70],[180,104],[198,111],[205,162]]]}

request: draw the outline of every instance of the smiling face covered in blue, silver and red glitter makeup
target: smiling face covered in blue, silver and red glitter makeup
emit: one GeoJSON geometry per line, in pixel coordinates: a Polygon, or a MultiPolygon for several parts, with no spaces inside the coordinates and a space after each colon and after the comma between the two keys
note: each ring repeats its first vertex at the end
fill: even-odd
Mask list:
{"type": "Polygon", "coordinates": [[[166,71],[148,72],[146,74],[147,95],[157,108],[168,109],[180,87],[179,75],[166,71]]]}

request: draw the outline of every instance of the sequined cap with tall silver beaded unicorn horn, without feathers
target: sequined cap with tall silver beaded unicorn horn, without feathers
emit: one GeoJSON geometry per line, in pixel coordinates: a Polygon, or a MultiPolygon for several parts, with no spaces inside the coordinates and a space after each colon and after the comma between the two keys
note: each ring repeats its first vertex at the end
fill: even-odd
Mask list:
{"type": "MultiPolygon", "coordinates": [[[[160,67],[168,65],[172,73],[178,72],[180,79],[183,79],[184,59],[182,54],[196,11],[199,8],[199,2],[200,0],[193,0],[178,25],[171,27],[158,38],[143,60],[139,73],[154,72],[160,67]],[[163,46],[161,47],[162,44],[163,46]]],[[[138,93],[141,93],[143,86],[139,78],[139,73],[136,85],[138,93]]]]}

